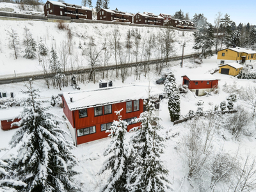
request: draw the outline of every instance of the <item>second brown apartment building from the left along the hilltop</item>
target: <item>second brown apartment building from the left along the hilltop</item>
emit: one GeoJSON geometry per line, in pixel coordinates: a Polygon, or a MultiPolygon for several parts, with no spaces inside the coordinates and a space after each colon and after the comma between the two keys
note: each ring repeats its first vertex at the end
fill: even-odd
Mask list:
{"type": "Polygon", "coordinates": [[[130,13],[119,12],[114,10],[100,9],[97,13],[97,20],[108,20],[116,22],[131,22],[132,17],[130,13]]]}

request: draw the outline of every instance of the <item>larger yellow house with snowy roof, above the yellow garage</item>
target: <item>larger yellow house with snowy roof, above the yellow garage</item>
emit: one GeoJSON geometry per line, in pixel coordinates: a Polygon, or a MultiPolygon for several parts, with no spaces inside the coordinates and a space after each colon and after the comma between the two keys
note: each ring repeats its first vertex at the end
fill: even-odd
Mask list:
{"type": "Polygon", "coordinates": [[[232,47],[218,51],[217,62],[219,65],[227,63],[251,63],[256,60],[256,51],[241,47],[232,47]]]}

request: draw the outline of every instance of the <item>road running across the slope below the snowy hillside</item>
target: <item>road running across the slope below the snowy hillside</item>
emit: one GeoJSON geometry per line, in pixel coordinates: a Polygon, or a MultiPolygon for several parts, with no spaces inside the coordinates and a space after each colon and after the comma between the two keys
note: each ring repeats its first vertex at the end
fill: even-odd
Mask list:
{"type": "MultiPolygon", "coordinates": [[[[193,56],[194,54],[187,54],[184,55],[184,59],[186,58],[191,58],[191,56],[193,56]]],[[[175,56],[172,58],[169,58],[168,61],[177,61],[177,60],[181,60],[182,56],[175,56]]],[[[140,61],[138,63],[126,63],[126,64],[122,64],[122,65],[117,65],[118,68],[125,68],[125,67],[133,67],[136,66],[138,64],[140,65],[154,65],[156,63],[158,63],[161,60],[150,60],[150,61],[140,61]]],[[[97,71],[101,71],[101,70],[115,70],[116,69],[116,65],[109,65],[106,67],[96,67],[95,70],[97,71]]],[[[65,72],[66,76],[69,76],[71,74],[83,74],[86,72],[90,72],[91,68],[80,68],[79,70],[67,70],[65,72]]],[[[48,77],[54,76],[54,74],[48,74],[48,77]]],[[[18,82],[24,82],[24,81],[28,81],[30,78],[38,80],[38,79],[44,79],[44,72],[39,71],[39,72],[30,72],[30,73],[24,73],[24,74],[19,74],[19,76],[13,75],[13,76],[0,76],[0,84],[10,84],[10,83],[18,83],[18,82]]]]}

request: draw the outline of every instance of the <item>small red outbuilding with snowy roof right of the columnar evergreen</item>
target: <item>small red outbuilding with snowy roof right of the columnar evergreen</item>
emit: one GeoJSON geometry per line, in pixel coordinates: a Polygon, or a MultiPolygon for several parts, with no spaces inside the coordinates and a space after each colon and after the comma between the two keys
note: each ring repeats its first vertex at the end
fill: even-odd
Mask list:
{"type": "Polygon", "coordinates": [[[188,85],[189,90],[195,92],[197,96],[205,95],[205,92],[211,92],[218,86],[219,79],[211,74],[191,74],[182,76],[182,84],[188,85]]]}

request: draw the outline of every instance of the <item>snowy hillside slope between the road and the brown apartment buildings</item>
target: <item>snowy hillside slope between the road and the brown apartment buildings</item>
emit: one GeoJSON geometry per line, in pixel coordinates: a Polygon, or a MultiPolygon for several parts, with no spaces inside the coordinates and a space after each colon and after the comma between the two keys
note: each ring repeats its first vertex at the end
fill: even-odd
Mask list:
{"type": "MultiPolygon", "coordinates": [[[[59,58],[61,59],[61,52],[66,52],[68,49],[68,30],[67,29],[58,29],[58,23],[54,22],[42,22],[42,21],[9,21],[9,20],[0,20],[0,67],[4,68],[4,71],[0,71],[0,75],[13,74],[13,70],[17,74],[24,72],[33,72],[42,70],[42,67],[38,63],[38,58],[34,60],[29,60],[23,58],[24,51],[26,47],[22,44],[24,40],[24,28],[28,28],[29,32],[31,32],[32,37],[35,39],[37,44],[40,42],[40,38],[42,38],[44,44],[47,49],[51,51],[51,47],[56,49],[59,58]],[[9,46],[10,37],[8,36],[8,31],[11,29],[15,29],[17,36],[19,38],[19,57],[15,60],[14,51],[9,46]]],[[[111,36],[115,28],[120,31],[120,44],[122,46],[122,52],[127,53],[125,49],[125,44],[127,41],[127,31],[136,31],[138,29],[141,40],[138,45],[138,60],[145,60],[145,50],[144,52],[142,47],[148,46],[148,41],[150,36],[154,36],[155,42],[152,44],[152,53],[150,58],[159,58],[161,54],[159,54],[159,49],[161,48],[161,42],[159,42],[159,36],[161,35],[161,28],[141,28],[141,27],[131,27],[131,26],[119,26],[119,25],[108,25],[108,24],[63,24],[65,28],[70,29],[72,34],[72,42],[71,46],[71,54],[67,54],[67,68],[77,68],[80,66],[88,67],[90,60],[86,54],[86,49],[88,49],[88,45],[90,42],[96,47],[97,51],[100,51],[102,47],[104,47],[104,42],[106,39],[106,47],[110,53],[109,65],[114,65],[115,56],[113,48],[111,47],[111,36]],[[80,49],[79,49],[80,47],[80,49]],[[158,50],[158,51],[157,51],[158,50]]],[[[194,36],[192,32],[182,32],[182,31],[173,31],[174,35],[174,47],[173,52],[170,54],[173,55],[181,55],[182,54],[182,46],[181,44],[185,41],[186,47],[184,49],[184,54],[190,54],[194,52],[191,47],[193,47],[194,36]]],[[[134,45],[134,39],[131,38],[131,58],[129,62],[135,61],[135,51],[136,46],[134,45]]],[[[145,49],[144,48],[144,49],[145,49]]],[[[38,51],[38,49],[37,49],[38,51]]],[[[69,51],[68,51],[69,52],[69,51]]],[[[62,54],[63,55],[63,54],[62,54]]],[[[127,58],[127,56],[125,56],[127,58]]],[[[101,52],[100,55],[100,64],[102,66],[103,55],[101,52]]],[[[118,63],[119,63],[118,59],[118,63]]],[[[124,61],[125,62],[125,61],[124,61]]],[[[126,59],[128,63],[128,60],[126,59]]]]}

